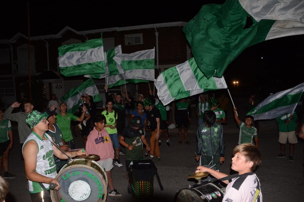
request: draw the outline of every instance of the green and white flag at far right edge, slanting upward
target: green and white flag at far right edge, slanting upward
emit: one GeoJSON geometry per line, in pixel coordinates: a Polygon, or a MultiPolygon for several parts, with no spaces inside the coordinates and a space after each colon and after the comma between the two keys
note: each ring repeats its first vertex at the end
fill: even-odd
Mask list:
{"type": "Polygon", "coordinates": [[[247,115],[254,120],[273,119],[282,114],[291,113],[295,110],[304,91],[304,83],[293,88],[268,96],[264,101],[250,110],[247,115]]]}

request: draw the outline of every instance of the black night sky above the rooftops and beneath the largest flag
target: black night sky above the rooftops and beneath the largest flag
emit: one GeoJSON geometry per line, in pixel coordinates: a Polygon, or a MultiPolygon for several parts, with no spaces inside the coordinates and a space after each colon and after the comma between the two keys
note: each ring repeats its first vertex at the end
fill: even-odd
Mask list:
{"type": "MultiPolygon", "coordinates": [[[[65,26],[77,31],[166,22],[188,22],[203,4],[225,0],[163,3],[163,1],[29,1],[30,35],[57,34],[65,26]],[[174,4],[174,5],[173,5],[174,4]]],[[[27,35],[27,1],[2,2],[0,39],[21,32],[27,35]]],[[[304,35],[264,41],[247,48],[225,71],[228,86],[239,80],[241,87],[257,89],[274,84],[280,90],[304,82],[304,35]],[[261,59],[263,57],[263,59],[261,59]]],[[[232,86],[234,87],[234,86],[232,86]]]]}

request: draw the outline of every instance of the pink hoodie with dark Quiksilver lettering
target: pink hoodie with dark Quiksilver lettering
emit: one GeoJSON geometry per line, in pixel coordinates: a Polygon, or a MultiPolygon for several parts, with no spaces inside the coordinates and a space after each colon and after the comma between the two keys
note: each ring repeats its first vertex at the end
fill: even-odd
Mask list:
{"type": "Polygon", "coordinates": [[[89,154],[98,155],[100,157],[99,161],[104,161],[110,157],[114,159],[112,141],[105,127],[100,132],[96,130],[96,127],[93,128],[88,135],[85,150],[89,154]]]}

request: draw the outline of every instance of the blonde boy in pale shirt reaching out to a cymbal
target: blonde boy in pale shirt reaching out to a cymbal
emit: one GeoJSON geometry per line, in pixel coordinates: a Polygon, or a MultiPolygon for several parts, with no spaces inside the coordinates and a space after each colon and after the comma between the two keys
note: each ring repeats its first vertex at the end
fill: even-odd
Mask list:
{"type": "MultiPolygon", "coordinates": [[[[222,180],[228,184],[222,201],[262,202],[260,181],[253,173],[260,163],[261,153],[254,144],[244,143],[236,146],[233,150],[231,169],[237,171],[238,175],[231,179],[222,180]]],[[[209,172],[219,180],[228,176],[204,166],[199,166],[196,169],[195,173],[209,172]]]]}

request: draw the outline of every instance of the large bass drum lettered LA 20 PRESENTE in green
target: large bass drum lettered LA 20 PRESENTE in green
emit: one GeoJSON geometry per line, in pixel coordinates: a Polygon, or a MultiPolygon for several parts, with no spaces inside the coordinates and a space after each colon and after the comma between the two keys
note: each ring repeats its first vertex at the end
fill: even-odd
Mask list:
{"type": "Polygon", "coordinates": [[[56,179],[61,187],[59,190],[51,190],[53,202],[102,202],[107,198],[107,175],[96,161],[71,160],[62,167],[56,179]]]}

